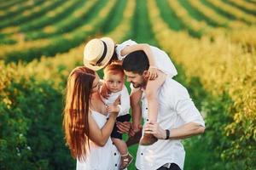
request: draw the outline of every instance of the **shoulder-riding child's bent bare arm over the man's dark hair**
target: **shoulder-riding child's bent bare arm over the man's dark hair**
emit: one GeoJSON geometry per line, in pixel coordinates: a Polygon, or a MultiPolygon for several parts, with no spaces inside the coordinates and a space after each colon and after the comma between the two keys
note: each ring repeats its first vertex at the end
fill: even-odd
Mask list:
{"type": "Polygon", "coordinates": [[[152,50],[147,43],[140,43],[140,44],[134,44],[131,46],[127,46],[121,51],[121,55],[124,56],[127,54],[131,54],[132,52],[138,51],[138,50],[143,50],[144,53],[147,55],[149,65],[151,65],[151,66],[155,65],[152,50]]]}

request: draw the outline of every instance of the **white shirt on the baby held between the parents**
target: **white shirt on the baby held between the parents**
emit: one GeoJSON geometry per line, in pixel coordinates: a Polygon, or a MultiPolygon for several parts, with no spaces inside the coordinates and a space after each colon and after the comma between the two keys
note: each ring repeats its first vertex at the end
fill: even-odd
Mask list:
{"type": "Polygon", "coordinates": [[[119,95],[121,95],[121,98],[119,105],[120,111],[118,116],[124,116],[128,114],[130,110],[130,95],[125,85],[123,86],[121,91],[109,94],[108,99],[102,97],[102,100],[105,105],[112,105],[113,102],[119,97],[119,95]]]}

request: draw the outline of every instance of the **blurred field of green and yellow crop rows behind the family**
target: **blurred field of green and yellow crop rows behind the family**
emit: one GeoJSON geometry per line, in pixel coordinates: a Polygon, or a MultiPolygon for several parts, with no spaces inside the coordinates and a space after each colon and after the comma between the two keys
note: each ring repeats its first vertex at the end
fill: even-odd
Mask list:
{"type": "Polygon", "coordinates": [[[255,0],[1,0],[0,169],[75,169],[63,96],[93,37],[169,54],[207,126],[184,169],[256,169],[255,0]]]}

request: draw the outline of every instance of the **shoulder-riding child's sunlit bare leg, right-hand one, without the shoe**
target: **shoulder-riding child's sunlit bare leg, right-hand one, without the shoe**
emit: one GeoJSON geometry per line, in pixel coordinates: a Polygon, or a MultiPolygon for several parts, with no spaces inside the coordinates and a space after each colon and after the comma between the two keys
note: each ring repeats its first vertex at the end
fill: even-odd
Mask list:
{"type": "Polygon", "coordinates": [[[146,98],[148,100],[148,119],[149,122],[156,122],[158,115],[158,96],[157,91],[166,81],[166,74],[162,71],[157,72],[158,77],[148,81],[146,87],[146,98]]]}

